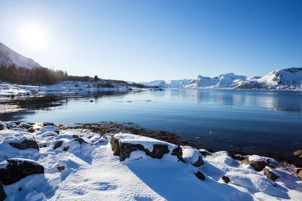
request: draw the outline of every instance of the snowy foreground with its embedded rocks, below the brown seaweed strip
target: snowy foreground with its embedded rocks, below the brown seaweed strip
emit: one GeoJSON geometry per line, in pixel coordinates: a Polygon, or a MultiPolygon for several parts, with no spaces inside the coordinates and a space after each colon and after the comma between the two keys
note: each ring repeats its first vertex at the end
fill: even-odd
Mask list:
{"type": "MultiPolygon", "coordinates": [[[[267,163],[275,181],[225,151],[211,154],[131,134],[100,136],[88,130],[59,131],[51,123],[44,128],[15,123],[0,122],[5,200],[302,200],[296,168],[271,158],[253,155],[248,160],[267,163]],[[33,168],[23,174],[43,167],[44,174],[20,180],[20,167],[28,164],[33,168]],[[5,179],[13,167],[15,175],[5,179]]],[[[0,200],[2,195],[0,184],[0,200]]]]}

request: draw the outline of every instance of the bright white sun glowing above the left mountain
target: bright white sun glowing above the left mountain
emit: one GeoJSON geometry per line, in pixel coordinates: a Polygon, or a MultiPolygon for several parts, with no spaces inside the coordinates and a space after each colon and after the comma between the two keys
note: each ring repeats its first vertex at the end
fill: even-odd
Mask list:
{"type": "Polygon", "coordinates": [[[47,44],[45,30],[35,24],[29,24],[20,31],[21,40],[29,48],[41,49],[47,44]]]}

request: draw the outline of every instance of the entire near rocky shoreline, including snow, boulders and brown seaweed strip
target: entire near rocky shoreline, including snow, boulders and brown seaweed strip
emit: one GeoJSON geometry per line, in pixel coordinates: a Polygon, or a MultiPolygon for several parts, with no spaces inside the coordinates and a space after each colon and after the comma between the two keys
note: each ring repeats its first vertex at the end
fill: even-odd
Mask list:
{"type": "MultiPolygon", "coordinates": [[[[298,168],[296,164],[290,164],[282,158],[278,161],[271,157],[246,155],[242,152],[208,151],[194,146],[198,145],[193,141],[181,141],[173,133],[143,129],[132,123],[102,122],[68,127],[51,122],[0,122],[0,200],[71,200],[70,193],[81,197],[82,188],[85,187],[77,184],[74,186],[77,191],[72,191],[70,185],[75,182],[72,179],[77,182],[81,182],[83,177],[89,179],[91,175],[87,171],[91,168],[95,175],[90,178],[93,181],[89,189],[95,187],[95,183],[101,182],[100,180],[107,180],[107,189],[113,185],[110,182],[122,177],[122,180],[129,179],[132,182],[120,185],[121,188],[131,189],[129,199],[135,199],[137,193],[146,190],[135,189],[137,184],[133,180],[143,179],[149,172],[153,172],[153,176],[158,174],[158,179],[164,181],[175,177],[187,179],[185,182],[191,185],[195,183],[203,194],[207,193],[204,188],[209,184],[217,185],[214,191],[232,187],[223,193],[219,192],[219,196],[215,195],[216,200],[230,196],[231,199],[249,197],[247,200],[302,198],[302,168],[298,168]],[[104,157],[108,159],[103,160],[104,157]],[[94,181],[99,172],[112,169],[117,172],[111,177],[105,176],[94,181]],[[148,173],[137,172],[142,169],[148,173]],[[81,170],[82,173],[78,173],[81,170]],[[123,177],[123,171],[129,171],[129,175],[123,177]],[[75,177],[77,174],[80,175],[75,177]],[[165,178],[167,175],[170,177],[165,178]],[[221,183],[227,186],[221,186],[221,183]],[[133,187],[128,188],[131,184],[133,187]],[[232,191],[235,194],[228,194],[232,191]]],[[[300,157],[301,153],[300,150],[294,154],[300,157]]],[[[153,176],[147,177],[151,179],[149,182],[154,182],[153,176]]],[[[172,183],[179,186],[176,181],[172,183]]],[[[104,181],[101,183],[103,185],[104,181]]],[[[188,184],[179,189],[182,193],[180,195],[194,200],[196,197],[188,191],[196,188],[188,184]]],[[[83,185],[86,185],[85,182],[83,185]]],[[[211,190],[208,189],[209,199],[213,199],[211,190]]],[[[106,199],[106,196],[108,198],[110,192],[95,191],[99,193],[100,199],[106,199]]],[[[169,190],[161,192],[165,194],[169,190]]],[[[86,193],[91,194],[89,190],[86,193]]],[[[109,198],[114,199],[112,196],[115,195],[116,192],[110,194],[109,198]]],[[[165,200],[162,195],[152,196],[153,199],[165,200]],[[160,197],[155,198],[156,196],[160,197]]],[[[175,195],[166,196],[175,199],[175,195]]]]}

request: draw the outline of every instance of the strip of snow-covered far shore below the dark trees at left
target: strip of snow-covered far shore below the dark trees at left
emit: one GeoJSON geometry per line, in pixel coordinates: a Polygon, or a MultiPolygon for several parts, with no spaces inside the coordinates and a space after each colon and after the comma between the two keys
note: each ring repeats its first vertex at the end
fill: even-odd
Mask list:
{"type": "MultiPolygon", "coordinates": [[[[141,90],[140,88],[131,86],[132,90],[141,90]]],[[[53,85],[30,86],[30,85],[17,85],[17,84],[0,84],[0,97],[8,95],[26,95],[32,94],[33,91],[39,94],[46,94],[52,91],[64,90],[127,90],[124,85],[118,85],[116,88],[94,88],[91,82],[73,82],[64,81],[53,85]]],[[[36,94],[37,95],[37,94],[36,94]]]]}

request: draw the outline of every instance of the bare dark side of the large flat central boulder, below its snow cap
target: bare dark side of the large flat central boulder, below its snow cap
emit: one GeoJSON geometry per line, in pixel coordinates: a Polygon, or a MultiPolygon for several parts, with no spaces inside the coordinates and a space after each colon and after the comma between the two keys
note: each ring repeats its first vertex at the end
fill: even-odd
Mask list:
{"type": "MultiPolygon", "coordinates": [[[[141,144],[119,142],[119,140],[115,136],[112,136],[110,144],[114,155],[120,156],[121,161],[124,161],[127,157],[130,156],[131,152],[136,150],[143,151],[146,155],[157,159],[162,158],[164,154],[170,152],[168,146],[164,144],[154,144],[153,151],[150,152],[148,149],[145,149],[141,144]]],[[[177,156],[179,160],[184,162],[182,158],[182,150],[180,147],[175,148],[171,154],[177,156]]]]}

